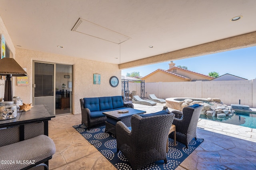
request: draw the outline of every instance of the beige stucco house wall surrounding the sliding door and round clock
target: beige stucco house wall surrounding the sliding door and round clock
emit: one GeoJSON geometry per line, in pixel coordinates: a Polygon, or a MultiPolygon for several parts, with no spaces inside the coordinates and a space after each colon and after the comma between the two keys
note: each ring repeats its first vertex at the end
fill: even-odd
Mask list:
{"type": "MultiPolygon", "coordinates": [[[[121,81],[121,72],[118,64],[15,48],[1,16],[0,33],[4,35],[14,59],[22,68],[26,68],[28,73],[28,86],[17,86],[16,77],[12,77],[13,96],[20,96],[24,103],[32,103],[33,61],[73,65],[73,114],[81,113],[80,98],[121,95],[122,83],[119,83],[116,88],[112,88],[109,84],[111,76],[117,76],[121,81]],[[95,73],[101,75],[100,84],[93,84],[93,74],[95,73]]],[[[4,84],[4,81],[1,79],[0,83],[4,84]]],[[[0,85],[0,98],[2,97],[4,97],[4,85],[0,85]]]]}

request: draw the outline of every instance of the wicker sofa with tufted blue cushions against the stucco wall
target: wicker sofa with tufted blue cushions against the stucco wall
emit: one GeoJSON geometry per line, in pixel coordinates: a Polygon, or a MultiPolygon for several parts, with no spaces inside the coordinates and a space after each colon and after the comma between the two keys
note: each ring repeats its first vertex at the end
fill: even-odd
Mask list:
{"type": "Polygon", "coordinates": [[[108,96],[98,98],[80,99],[82,123],[90,128],[93,125],[104,123],[106,115],[104,111],[124,109],[126,107],[134,108],[133,104],[125,104],[123,96],[108,96]]]}

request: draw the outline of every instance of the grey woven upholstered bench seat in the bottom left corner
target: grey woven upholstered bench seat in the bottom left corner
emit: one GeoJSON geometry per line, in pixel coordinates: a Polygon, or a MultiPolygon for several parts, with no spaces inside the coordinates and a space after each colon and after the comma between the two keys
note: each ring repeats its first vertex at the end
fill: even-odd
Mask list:
{"type": "Polygon", "coordinates": [[[46,135],[39,135],[24,141],[0,147],[1,170],[26,170],[52,158],[55,144],[46,135]]]}

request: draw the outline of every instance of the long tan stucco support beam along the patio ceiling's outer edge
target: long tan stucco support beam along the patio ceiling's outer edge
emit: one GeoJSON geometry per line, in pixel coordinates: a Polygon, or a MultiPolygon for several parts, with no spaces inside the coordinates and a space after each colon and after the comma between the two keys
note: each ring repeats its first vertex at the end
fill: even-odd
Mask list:
{"type": "Polygon", "coordinates": [[[185,49],[172,51],[169,53],[155,55],[152,57],[147,57],[144,59],[139,59],[139,60],[131,61],[128,63],[119,64],[119,69],[132,68],[132,67],[143,66],[148,64],[156,64],[156,63],[186,59],[191,57],[198,57],[202,55],[220,53],[224,51],[230,51],[230,50],[253,47],[253,46],[256,46],[256,31],[251,33],[246,33],[243,35],[238,35],[235,37],[221,39],[218,41],[213,41],[210,43],[196,45],[194,47],[188,47],[185,49]]]}

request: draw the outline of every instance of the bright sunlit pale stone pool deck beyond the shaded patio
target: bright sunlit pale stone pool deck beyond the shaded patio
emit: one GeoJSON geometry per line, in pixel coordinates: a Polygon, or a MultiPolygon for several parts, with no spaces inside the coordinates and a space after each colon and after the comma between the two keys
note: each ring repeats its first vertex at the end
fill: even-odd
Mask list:
{"type": "MultiPolygon", "coordinates": [[[[133,104],[134,109],[144,110],[147,113],[155,113],[161,111],[166,104],[157,103],[155,106],[146,106],[141,104],[133,104]]],[[[176,109],[169,108],[169,111],[176,109]]],[[[256,108],[250,108],[256,112],[256,108]]],[[[228,135],[230,137],[236,137],[247,141],[256,143],[256,129],[250,127],[243,127],[239,125],[232,125],[228,123],[222,123],[217,121],[211,121],[206,119],[198,119],[198,128],[206,131],[212,131],[214,133],[220,133],[222,135],[228,135]]]]}

